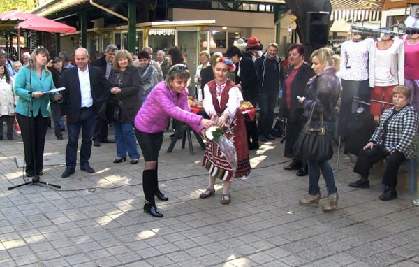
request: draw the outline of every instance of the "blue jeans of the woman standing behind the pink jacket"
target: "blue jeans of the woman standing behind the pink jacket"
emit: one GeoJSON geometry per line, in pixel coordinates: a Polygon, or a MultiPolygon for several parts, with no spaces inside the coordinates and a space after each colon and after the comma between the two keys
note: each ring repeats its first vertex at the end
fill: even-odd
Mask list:
{"type": "Polygon", "coordinates": [[[135,139],[133,122],[113,122],[115,129],[115,145],[117,145],[117,157],[126,157],[126,152],[130,159],[140,158],[135,139]]]}

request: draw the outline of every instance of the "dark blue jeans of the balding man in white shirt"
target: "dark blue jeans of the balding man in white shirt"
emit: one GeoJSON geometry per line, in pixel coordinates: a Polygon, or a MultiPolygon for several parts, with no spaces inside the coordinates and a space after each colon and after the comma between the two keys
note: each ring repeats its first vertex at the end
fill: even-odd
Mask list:
{"type": "Polygon", "coordinates": [[[76,123],[67,122],[68,143],[66,149],[66,166],[75,169],[77,160],[77,145],[80,129],[82,129],[82,146],[80,147],[80,166],[89,164],[91,155],[91,139],[96,127],[94,108],[82,108],[80,118],[76,123]]]}

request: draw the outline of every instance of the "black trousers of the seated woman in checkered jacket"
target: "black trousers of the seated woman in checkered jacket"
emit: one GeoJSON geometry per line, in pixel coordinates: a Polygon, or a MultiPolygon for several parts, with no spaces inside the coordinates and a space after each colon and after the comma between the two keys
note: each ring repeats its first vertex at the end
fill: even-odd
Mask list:
{"type": "Polygon", "coordinates": [[[355,167],[353,167],[353,172],[367,178],[372,165],[385,158],[387,158],[387,163],[385,164],[383,184],[390,188],[395,188],[397,185],[397,171],[399,171],[403,161],[406,160],[404,154],[397,150],[388,155],[378,146],[373,147],[371,150],[362,149],[358,155],[355,167]]]}

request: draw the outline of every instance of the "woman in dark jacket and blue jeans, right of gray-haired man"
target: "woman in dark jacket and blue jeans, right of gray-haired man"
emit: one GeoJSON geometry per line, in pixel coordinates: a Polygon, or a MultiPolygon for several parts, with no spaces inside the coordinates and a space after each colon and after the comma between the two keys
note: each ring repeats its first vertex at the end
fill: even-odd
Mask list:
{"type": "Polygon", "coordinates": [[[140,154],[133,131],[134,118],[140,108],[140,73],[133,66],[131,54],[118,50],[113,59],[112,71],[108,81],[112,85],[110,93],[121,103],[122,111],[118,121],[113,122],[117,158],[114,163],[126,161],[128,153],[130,164],[137,164],[140,154]]]}

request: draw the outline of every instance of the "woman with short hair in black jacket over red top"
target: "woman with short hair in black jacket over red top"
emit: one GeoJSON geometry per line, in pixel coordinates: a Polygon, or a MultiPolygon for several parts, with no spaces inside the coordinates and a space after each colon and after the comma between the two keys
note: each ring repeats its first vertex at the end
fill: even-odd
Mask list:
{"type": "Polygon", "coordinates": [[[287,118],[284,156],[293,159],[284,170],[300,170],[297,176],[305,176],[309,173],[307,162],[302,159],[295,159],[293,146],[298,134],[306,122],[304,108],[298,103],[297,96],[306,96],[306,85],[311,77],[315,75],[311,66],[304,62],[304,46],[301,44],[291,45],[288,48],[288,68],[285,79],[285,89],[282,92],[281,111],[282,116],[287,118]]]}

